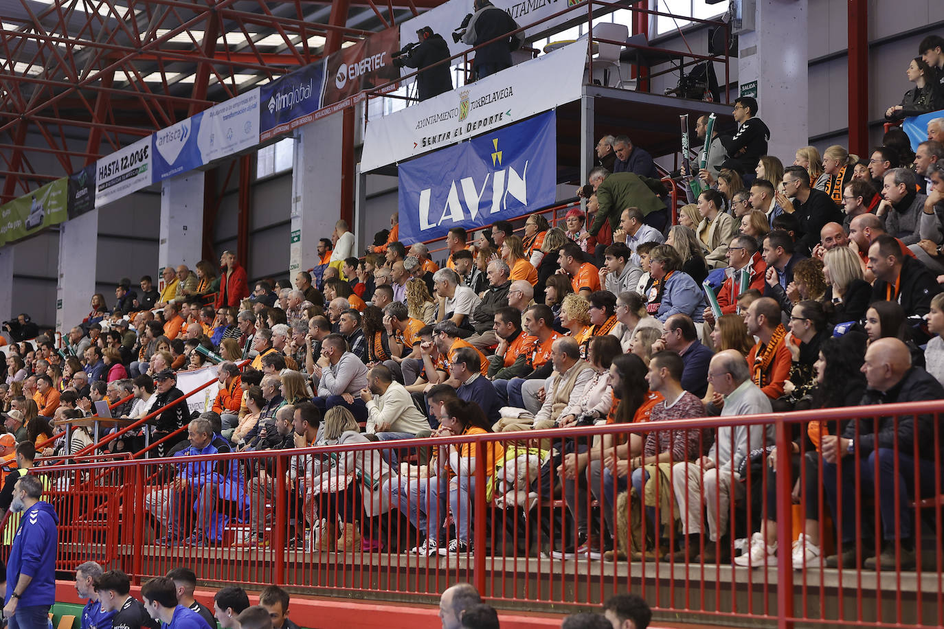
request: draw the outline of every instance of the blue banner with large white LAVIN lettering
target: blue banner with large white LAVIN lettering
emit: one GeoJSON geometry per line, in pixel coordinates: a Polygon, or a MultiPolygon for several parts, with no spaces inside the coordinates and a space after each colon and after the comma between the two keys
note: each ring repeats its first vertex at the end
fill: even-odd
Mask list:
{"type": "Polygon", "coordinates": [[[399,163],[400,240],[441,238],[554,203],[553,111],[399,163]]]}

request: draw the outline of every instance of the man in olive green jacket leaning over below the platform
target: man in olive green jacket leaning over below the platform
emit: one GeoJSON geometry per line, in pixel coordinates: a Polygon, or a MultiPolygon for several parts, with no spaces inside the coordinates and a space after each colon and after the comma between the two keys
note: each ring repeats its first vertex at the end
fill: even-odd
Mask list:
{"type": "MultiPolygon", "coordinates": [[[[638,207],[646,217],[645,223],[659,231],[666,228],[666,204],[659,195],[666,188],[659,179],[641,177],[634,173],[610,173],[602,167],[590,171],[587,177],[597,192],[597,215],[587,232],[597,237],[603,221],[609,220],[613,231],[619,229],[619,215],[627,207],[638,207]]],[[[582,193],[579,190],[579,194],[582,193]]]]}

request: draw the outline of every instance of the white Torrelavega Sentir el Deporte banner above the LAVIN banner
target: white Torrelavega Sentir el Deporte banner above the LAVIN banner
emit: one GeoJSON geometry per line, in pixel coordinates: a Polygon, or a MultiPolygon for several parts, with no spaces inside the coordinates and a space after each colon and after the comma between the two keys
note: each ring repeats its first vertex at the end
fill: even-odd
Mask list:
{"type": "Polygon", "coordinates": [[[370,122],[361,171],[428,153],[581,97],[585,41],[491,74],[370,122]],[[553,89],[548,89],[553,77],[553,89]]]}

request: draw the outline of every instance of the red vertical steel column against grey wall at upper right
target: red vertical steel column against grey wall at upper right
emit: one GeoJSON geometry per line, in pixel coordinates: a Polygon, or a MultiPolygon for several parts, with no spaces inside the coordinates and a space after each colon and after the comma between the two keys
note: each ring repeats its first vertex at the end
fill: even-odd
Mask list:
{"type": "Polygon", "coordinates": [[[849,0],[849,152],[868,154],[868,0],[849,0]]]}

